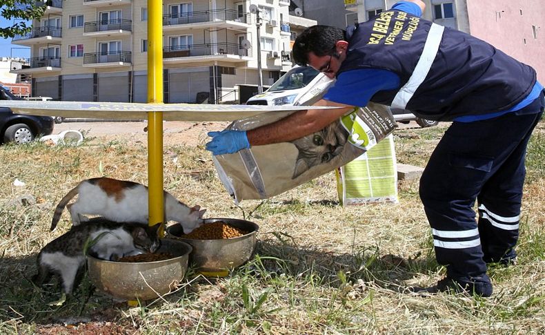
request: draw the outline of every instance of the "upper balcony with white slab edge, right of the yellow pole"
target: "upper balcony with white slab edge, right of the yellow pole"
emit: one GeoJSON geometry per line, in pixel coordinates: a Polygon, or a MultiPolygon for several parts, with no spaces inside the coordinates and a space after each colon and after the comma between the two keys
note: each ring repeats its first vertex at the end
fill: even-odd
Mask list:
{"type": "Polygon", "coordinates": [[[248,28],[250,15],[239,16],[237,10],[201,10],[181,14],[163,15],[163,30],[184,28],[248,28]]]}

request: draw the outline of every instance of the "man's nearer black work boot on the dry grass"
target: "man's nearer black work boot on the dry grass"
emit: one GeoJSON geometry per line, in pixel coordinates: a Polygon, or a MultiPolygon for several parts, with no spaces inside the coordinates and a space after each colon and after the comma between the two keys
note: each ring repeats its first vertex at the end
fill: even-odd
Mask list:
{"type": "Polygon", "coordinates": [[[490,283],[490,278],[486,274],[480,277],[457,279],[445,277],[432,287],[409,287],[409,291],[431,294],[452,291],[488,297],[492,295],[492,283],[490,283]]]}

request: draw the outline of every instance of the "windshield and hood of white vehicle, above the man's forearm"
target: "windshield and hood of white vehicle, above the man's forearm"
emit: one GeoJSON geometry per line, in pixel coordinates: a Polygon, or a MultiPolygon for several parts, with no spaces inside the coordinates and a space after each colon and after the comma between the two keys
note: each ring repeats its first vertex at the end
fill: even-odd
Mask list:
{"type": "MultiPolygon", "coordinates": [[[[325,87],[331,81],[310,66],[294,66],[264,93],[248,99],[247,105],[296,105],[313,88],[325,87]],[[323,84],[323,85],[322,85],[323,84]]],[[[323,89],[323,88],[321,88],[323,89]]]]}

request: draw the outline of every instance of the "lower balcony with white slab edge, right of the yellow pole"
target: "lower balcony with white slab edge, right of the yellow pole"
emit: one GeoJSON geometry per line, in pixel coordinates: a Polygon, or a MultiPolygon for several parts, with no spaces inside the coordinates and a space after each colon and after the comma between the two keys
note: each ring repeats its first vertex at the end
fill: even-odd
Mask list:
{"type": "Polygon", "coordinates": [[[251,49],[240,48],[235,43],[193,44],[192,46],[166,46],[163,48],[165,64],[184,64],[195,61],[249,61],[251,49]]]}

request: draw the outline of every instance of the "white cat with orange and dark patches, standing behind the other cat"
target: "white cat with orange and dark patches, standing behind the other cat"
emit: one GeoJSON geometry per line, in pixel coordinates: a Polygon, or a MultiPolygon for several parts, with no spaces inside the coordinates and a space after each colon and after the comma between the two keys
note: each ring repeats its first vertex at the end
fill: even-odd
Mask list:
{"type": "MultiPolygon", "coordinates": [[[[164,206],[166,220],[179,222],[184,227],[184,233],[190,233],[203,223],[202,216],[206,209],[198,205],[188,207],[166,191],[164,206]]],[[[88,220],[83,216],[85,214],[103,216],[116,222],[148,223],[148,187],[105,177],[83,180],[57,205],[51,231],[57,227],[64,207],[68,207],[75,226],[88,220]],[[76,195],[79,195],[77,200],[68,204],[76,195]]]]}

